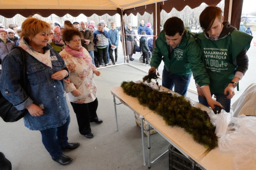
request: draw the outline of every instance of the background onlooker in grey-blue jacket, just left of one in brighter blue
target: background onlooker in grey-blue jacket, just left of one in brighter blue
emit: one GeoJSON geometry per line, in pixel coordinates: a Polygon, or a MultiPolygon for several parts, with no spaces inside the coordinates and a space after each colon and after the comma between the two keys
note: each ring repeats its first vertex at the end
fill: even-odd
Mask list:
{"type": "Polygon", "coordinates": [[[102,58],[104,60],[105,66],[108,66],[107,62],[107,50],[109,45],[109,33],[106,30],[103,30],[101,23],[98,24],[98,30],[94,31],[94,41],[96,43],[98,58],[99,58],[99,67],[102,66],[102,58]]]}

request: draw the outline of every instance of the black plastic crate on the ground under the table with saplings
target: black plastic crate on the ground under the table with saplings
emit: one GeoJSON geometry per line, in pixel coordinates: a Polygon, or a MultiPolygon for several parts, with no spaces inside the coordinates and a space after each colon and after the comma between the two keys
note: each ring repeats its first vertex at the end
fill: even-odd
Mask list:
{"type": "Polygon", "coordinates": [[[169,147],[169,169],[170,170],[201,170],[195,166],[195,162],[189,160],[173,145],[169,147]]]}

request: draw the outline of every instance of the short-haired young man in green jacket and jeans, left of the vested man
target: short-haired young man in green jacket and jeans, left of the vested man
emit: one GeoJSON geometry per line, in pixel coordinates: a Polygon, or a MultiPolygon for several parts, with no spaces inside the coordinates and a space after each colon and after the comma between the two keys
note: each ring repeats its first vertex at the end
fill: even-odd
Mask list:
{"type": "Polygon", "coordinates": [[[155,73],[163,60],[165,66],[162,71],[162,86],[170,90],[174,87],[175,92],[185,96],[192,71],[200,86],[210,83],[201,56],[200,47],[190,30],[184,28],[180,18],[171,17],[156,39],[149,72],[155,73]]]}

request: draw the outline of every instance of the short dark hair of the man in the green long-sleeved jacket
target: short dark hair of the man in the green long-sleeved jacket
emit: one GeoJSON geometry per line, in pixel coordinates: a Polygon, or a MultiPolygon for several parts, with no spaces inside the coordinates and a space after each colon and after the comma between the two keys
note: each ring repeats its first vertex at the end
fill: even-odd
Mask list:
{"type": "Polygon", "coordinates": [[[184,31],[184,23],[178,17],[171,17],[166,20],[164,25],[164,32],[168,36],[174,36],[177,32],[182,35],[184,31]]]}

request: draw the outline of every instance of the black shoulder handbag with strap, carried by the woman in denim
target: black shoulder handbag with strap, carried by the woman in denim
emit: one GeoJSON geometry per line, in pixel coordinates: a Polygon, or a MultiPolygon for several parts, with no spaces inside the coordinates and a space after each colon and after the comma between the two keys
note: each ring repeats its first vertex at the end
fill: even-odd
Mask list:
{"type": "MultiPolygon", "coordinates": [[[[18,48],[22,54],[20,85],[27,93],[28,92],[28,78],[27,78],[27,65],[26,65],[25,51],[19,46],[15,46],[14,48],[18,48]]],[[[0,92],[0,117],[3,118],[4,122],[16,122],[19,119],[21,119],[22,117],[24,117],[26,113],[28,113],[27,109],[18,111],[14,107],[14,105],[12,103],[10,103],[8,100],[6,100],[0,92]]]]}

